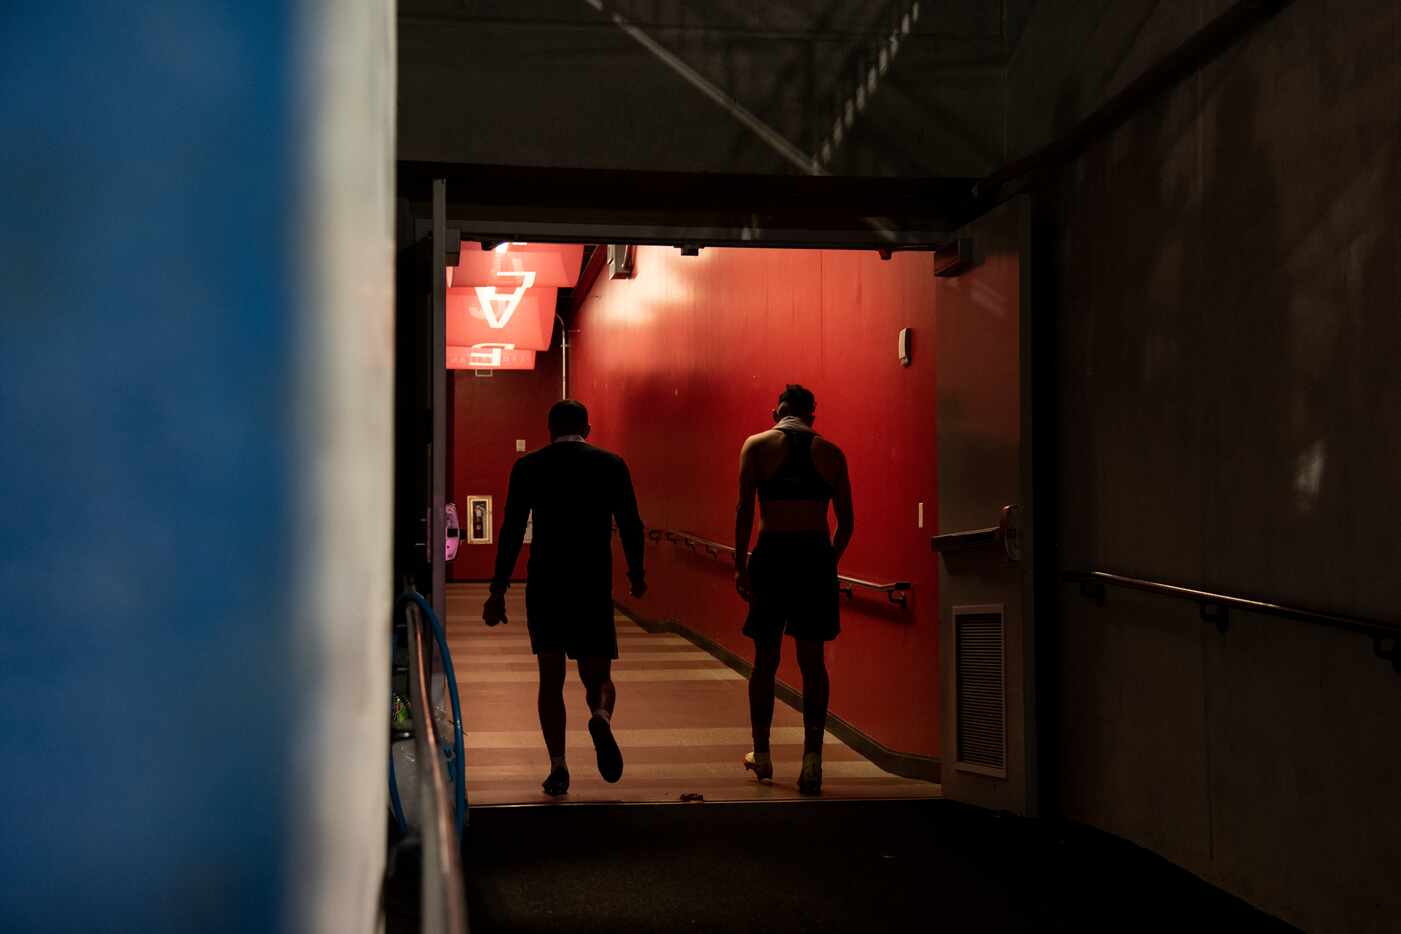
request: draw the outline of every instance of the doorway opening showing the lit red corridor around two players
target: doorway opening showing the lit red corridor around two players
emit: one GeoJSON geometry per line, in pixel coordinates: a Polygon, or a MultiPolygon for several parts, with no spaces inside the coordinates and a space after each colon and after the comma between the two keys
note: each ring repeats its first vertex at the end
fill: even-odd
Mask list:
{"type": "MultiPolygon", "coordinates": [[[[475,301],[479,322],[534,321],[537,333],[548,330],[548,346],[499,340],[516,346],[444,356],[453,368],[446,371],[441,483],[444,503],[462,517],[462,538],[444,567],[443,599],[462,689],[472,804],[548,801],[539,790],[548,759],[524,627],[528,545],[509,597],[513,625],[486,629],[481,611],[510,466],[548,442],[545,412],[563,395],[588,406],[590,441],[621,454],[632,469],[651,585],[643,599],[614,588],[615,728],[628,772],[619,784],[593,773],[583,688],[570,676],[569,800],[797,797],[801,714],[787,704],[778,704],[775,717],[779,781],[755,784],[741,767],[750,749],[744,674],[754,655],[740,634],[744,604],[731,567],[738,448],[771,426],[773,399],[790,382],[815,392],[815,427],[846,452],[856,503],[857,532],[841,567],[842,634],[827,655],[825,797],[937,795],[947,721],[940,591],[950,587],[930,542],[951,529],[940,524],[940,421],[948,413],[940,410],[947,400],[939,360],[947,349],[939,344],[936,305],[940,291],[954,288],[974,314],[1016,321],[1016,283],[1009,293],[976,274],[939,276],[955,265],[950,246],[953,258],[960,255],[957,230],[912,235],[918,228],[906,224],[891,248],[870,216],[845,227],[783,227],[779,235],[772,223],[702,228],[692,216],[682,218],[689,224],[672,217],[671,227],[643,231],[607,210],[587,224],[577,216],[558,224],[520,216],[483,221],[478,213],[461,204],[447,213],[457,256],[446,277],[444,315],[472,314],[475,301]],[[579,237],[623,228],[632,237],[622,242],[579,237]],[[475,281],[451,284],[471,262],[513,251],[573,255],[577,279],[544,286],[563,291],[534,305],[528,293],[513,304],[502,295],[514,290],[493,286],[486,295],[475,281]],[[462,288],[472,293],[451,295],[462,288]],[[532,357],[510,353],[520,350],[532,357]]],[[[748,220],[758,218],[751,213],[748,220]]],[[[530,272],[528,265],[513,272],[530,272]]],[[[448,316],[446,347],[457,346],[446,333],[454,326],[448,316]]],[[[1014,339],[1016,329],[1010,333],[1014,339]]],[[[1016,347],[1010,351],[1016,374],[1016,347]]],[[[1016,479],[1014,445],[1010,456],[1013,466],[1002,473],[1016,479]]],[[[1017,490],[998,496],[1017,501],[1017,490]]],[[[621,556],[614,566],[621,578],[621,556]]],[[[785,641],[780,699],[793,702],[801,676],[785,641]]]]}

